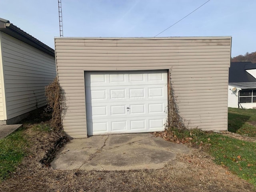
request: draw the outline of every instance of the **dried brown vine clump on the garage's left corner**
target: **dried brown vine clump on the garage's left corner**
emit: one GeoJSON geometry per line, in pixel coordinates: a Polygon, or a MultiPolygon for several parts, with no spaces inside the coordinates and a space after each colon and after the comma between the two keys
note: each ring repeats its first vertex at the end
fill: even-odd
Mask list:
{"type": "Polygon", "coordinates": [[[61,123],[61,105],[62,92],[58,84],[58,79],[55,78],[52,83],[45,87],[45,96],[48,102],[46,110],[52,112],[52,118],[50,120],[50,126],[55,130],[62,130],[61,123]]]}

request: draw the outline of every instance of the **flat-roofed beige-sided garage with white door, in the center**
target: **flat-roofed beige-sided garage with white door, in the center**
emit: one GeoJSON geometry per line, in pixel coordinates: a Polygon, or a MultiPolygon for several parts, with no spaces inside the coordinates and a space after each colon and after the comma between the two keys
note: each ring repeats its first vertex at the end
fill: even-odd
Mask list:
{"type": "Polygon", "coordinates": [[[55,38],[73,138],[164,130],[170,89],[188,128],[227,130],[231,37],[55,38]]]}

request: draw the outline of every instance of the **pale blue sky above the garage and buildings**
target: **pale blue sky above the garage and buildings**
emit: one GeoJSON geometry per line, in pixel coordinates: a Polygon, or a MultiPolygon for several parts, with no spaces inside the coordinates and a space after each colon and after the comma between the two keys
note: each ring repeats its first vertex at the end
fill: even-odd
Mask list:
{"type": "MultiPolygon", "coordinates": [[[[64,37],[154,37],[207,0],[62,0],[64,37]]],[[[232,56],[256,51],[256,0],[210,0],[158,37],[232,36],[232,56]]],[[[58,0],[0,0],[0,17],[54,48],[58,0]]]]}

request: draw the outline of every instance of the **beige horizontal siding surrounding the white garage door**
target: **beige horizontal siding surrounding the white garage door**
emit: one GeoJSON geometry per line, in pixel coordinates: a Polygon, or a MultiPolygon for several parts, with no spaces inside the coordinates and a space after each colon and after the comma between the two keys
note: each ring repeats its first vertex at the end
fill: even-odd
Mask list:
{"type": "Polygon", "coordinates": [[[230,48],[231,37],[56,38],[64,130],[73,138],[87,136],[84,71],[160,69],[170,70],[186,126],[227,130],[230,48]]]}

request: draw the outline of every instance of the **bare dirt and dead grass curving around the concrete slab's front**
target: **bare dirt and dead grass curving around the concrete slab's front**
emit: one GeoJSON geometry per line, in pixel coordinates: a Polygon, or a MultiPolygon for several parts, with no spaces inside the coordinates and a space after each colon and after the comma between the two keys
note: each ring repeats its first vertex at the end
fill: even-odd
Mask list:
{"type": "Polygon", "coordinates": [[[248,182],[212,162],[199,149],[192,154],[178,154],[176,160],[158,170],[83,171],[53,170],[41,164],[48,151],[62,137],[62,133],[37,132],[26,127],[31,141],[30,155],[0,191],[19,192],[85,192],[85,191],[175,191],[175,192],[241,192],[254,191],[248,182]]]}

